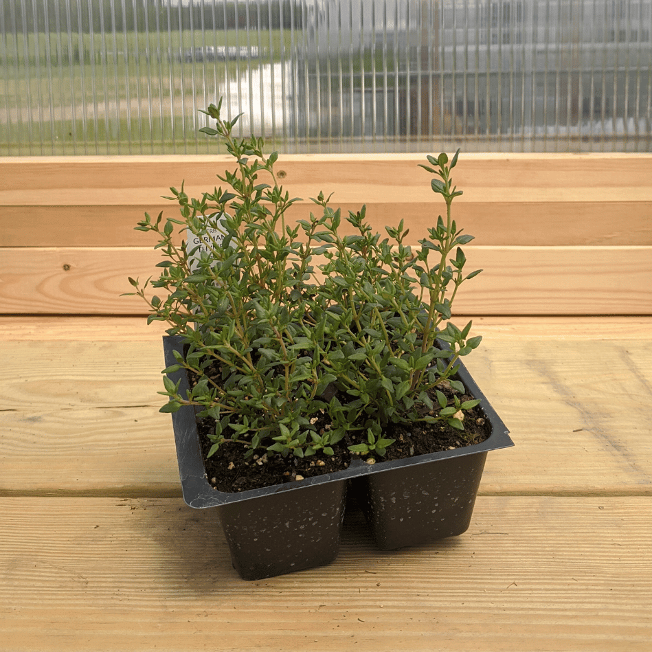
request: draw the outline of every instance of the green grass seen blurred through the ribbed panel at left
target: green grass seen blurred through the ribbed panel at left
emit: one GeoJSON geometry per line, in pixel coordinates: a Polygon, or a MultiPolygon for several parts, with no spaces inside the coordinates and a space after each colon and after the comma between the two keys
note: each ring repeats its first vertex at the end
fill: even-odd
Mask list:
{"type": "Polygon", "coordinates": [[[215,151],[195,135],[193,98],[197,109],[216,102],[247,63],[186,63],[183,53],[251,45],[259,48],[252,67],[289,56],[289,30],[261,37],[247,41],[245,30],[105,34],[104,41],[101,34],[8,36],[0,43],[0,155],[215,151]]]}

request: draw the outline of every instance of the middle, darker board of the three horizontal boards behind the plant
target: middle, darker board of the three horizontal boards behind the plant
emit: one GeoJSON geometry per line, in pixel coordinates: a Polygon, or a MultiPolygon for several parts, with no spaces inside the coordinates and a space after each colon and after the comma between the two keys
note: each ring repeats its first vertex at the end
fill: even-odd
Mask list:
{"type": "MultiPolygon", "coordinates": [[[[385,225],[396,226],[403,219],[412,244],[445,210],[434,196],[419,203],[381,202],[375,193],[373,189],[359,201],[342,201],[336,195],[333,205],[347,215],[366,203],[368,222],[382,234],[385,225]]],[[[454,215],[482,245],[652,245],[652,199],[506,202],[477,193],[472,199],[473,193],[467,194],[464,202],[456,203],[454,215]],[[626,222],[614,218],[623,212],[626,222]]],[[[172,203],[155,200],[143,205],[5,206],[0,212],[0,243],[5,247],[142,247],[151,237],[135,231],[136,223],[145,212],[157,216],[161,211],[170,217],[178,214],[172,203]]],[[[311,211],[315,212],[315,205],[303,202],[293,206],[288,216],[307,219],[311,211]]],[[[344,225],[342,232],[352,233],[352,228],[344,225]]]]}

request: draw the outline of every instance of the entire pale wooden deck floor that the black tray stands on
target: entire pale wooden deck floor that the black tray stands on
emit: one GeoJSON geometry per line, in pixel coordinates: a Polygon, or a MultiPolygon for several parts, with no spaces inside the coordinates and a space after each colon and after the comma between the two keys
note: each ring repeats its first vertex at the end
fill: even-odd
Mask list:
{"type": "Polygon", "coordinates": [[[0,650],[652,649],[652,317],[477,317],[469,370],[515,447],[471,528],[240,580],[183,504],[161,328],[0,317],[0,650]]]}

